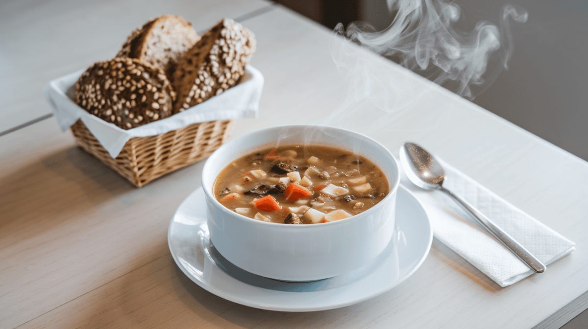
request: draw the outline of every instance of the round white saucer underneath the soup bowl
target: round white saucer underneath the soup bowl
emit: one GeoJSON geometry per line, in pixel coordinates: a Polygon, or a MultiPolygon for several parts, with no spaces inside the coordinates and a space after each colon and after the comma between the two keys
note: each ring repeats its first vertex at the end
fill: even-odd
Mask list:
{"type": "Polygon", "coordinates": [[[276,311],[319,311],[376,297],[406,280],[423,263],[433,239],[425,209],[399,186],[396,201],[397,248],[392,243],[372,263],[331,279],[292,283],[246,272],[212,246],[202,188],[186,198],[169,223],[169,250],[192,281],[223,299],[276,311]]]}

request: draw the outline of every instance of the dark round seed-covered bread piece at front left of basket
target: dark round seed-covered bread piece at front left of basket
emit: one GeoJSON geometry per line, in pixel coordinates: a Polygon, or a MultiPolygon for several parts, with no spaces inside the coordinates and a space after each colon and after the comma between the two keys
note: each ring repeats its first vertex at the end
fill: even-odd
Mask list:
{"type": "Polygon", "coordinates": [[[75,84],[79,106],[123,129],[171,116],[173,99],[163,71],[138,59],[94,63],[75,84]]]}

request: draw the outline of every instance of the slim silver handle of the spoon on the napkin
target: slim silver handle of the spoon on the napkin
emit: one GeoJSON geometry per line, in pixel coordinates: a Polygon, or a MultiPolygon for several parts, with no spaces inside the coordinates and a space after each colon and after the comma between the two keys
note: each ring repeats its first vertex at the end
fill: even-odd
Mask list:
{"type": "Polygon", "coordinates": [[[495,223],[490,221],[483,213],[478,211],[472,205],[470,205],[467,201],[460,198],[459,196],[453,194],[448,189],[444,188],[443,186],[439,187],[440,191],[445,192],[447,195],[451,196],[455,199],[460,205],[463,206],[467,211],[472,213],[472,215],[477,219],[477,221],[482,224],[486,228],[486,230],[492,234],[496,239],[502,242],[505,247],[510,249],[520,260],[527,263],[531,269],[533,269],[537,273],[543,273],[547,267],[539,260],[537,257],[533,256],[529,250],[525,249],[519,242],[512,238],[508,233],[503,231],[501,228],[496,226],[495,223]]]}

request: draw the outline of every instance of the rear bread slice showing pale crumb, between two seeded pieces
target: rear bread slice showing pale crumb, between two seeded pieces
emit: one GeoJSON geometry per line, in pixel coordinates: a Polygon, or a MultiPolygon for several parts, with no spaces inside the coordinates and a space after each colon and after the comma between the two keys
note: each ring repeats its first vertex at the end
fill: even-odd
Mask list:
{"type": "Polygon", "coordinates": [[[173,69],[186,50],[200,37],[180,16],[163,15],[134,30],[116,57],[130,57],[160,67],[171,79],[173,69]]]}

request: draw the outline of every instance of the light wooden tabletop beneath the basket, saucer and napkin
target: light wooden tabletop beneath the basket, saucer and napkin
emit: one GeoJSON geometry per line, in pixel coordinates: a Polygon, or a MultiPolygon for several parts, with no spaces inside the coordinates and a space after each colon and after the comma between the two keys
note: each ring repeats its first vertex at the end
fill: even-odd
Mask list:
{"type": "Polygon", "coordinates": [[[343,126],[396,155],[404,141],[424,145],[577,250],[500,288],[433,240],[405,282],[329,311],[258,310],[203,290],[167,242],[203,162],[134,188],[75,147],[42,98],[49,80],[113,56],[132,29],[163,13],[198,31],[238,18],[255,33],[252,65],[265,76],[259,118],[239,120],[233,137],[323,123],[349,96],[332,32],[270,2],[2,2],[0,328],[559,328],[588,308],[587,162],[369,52],[366,60],[404,82],[397,96],[406,111],[343,126]]]}

